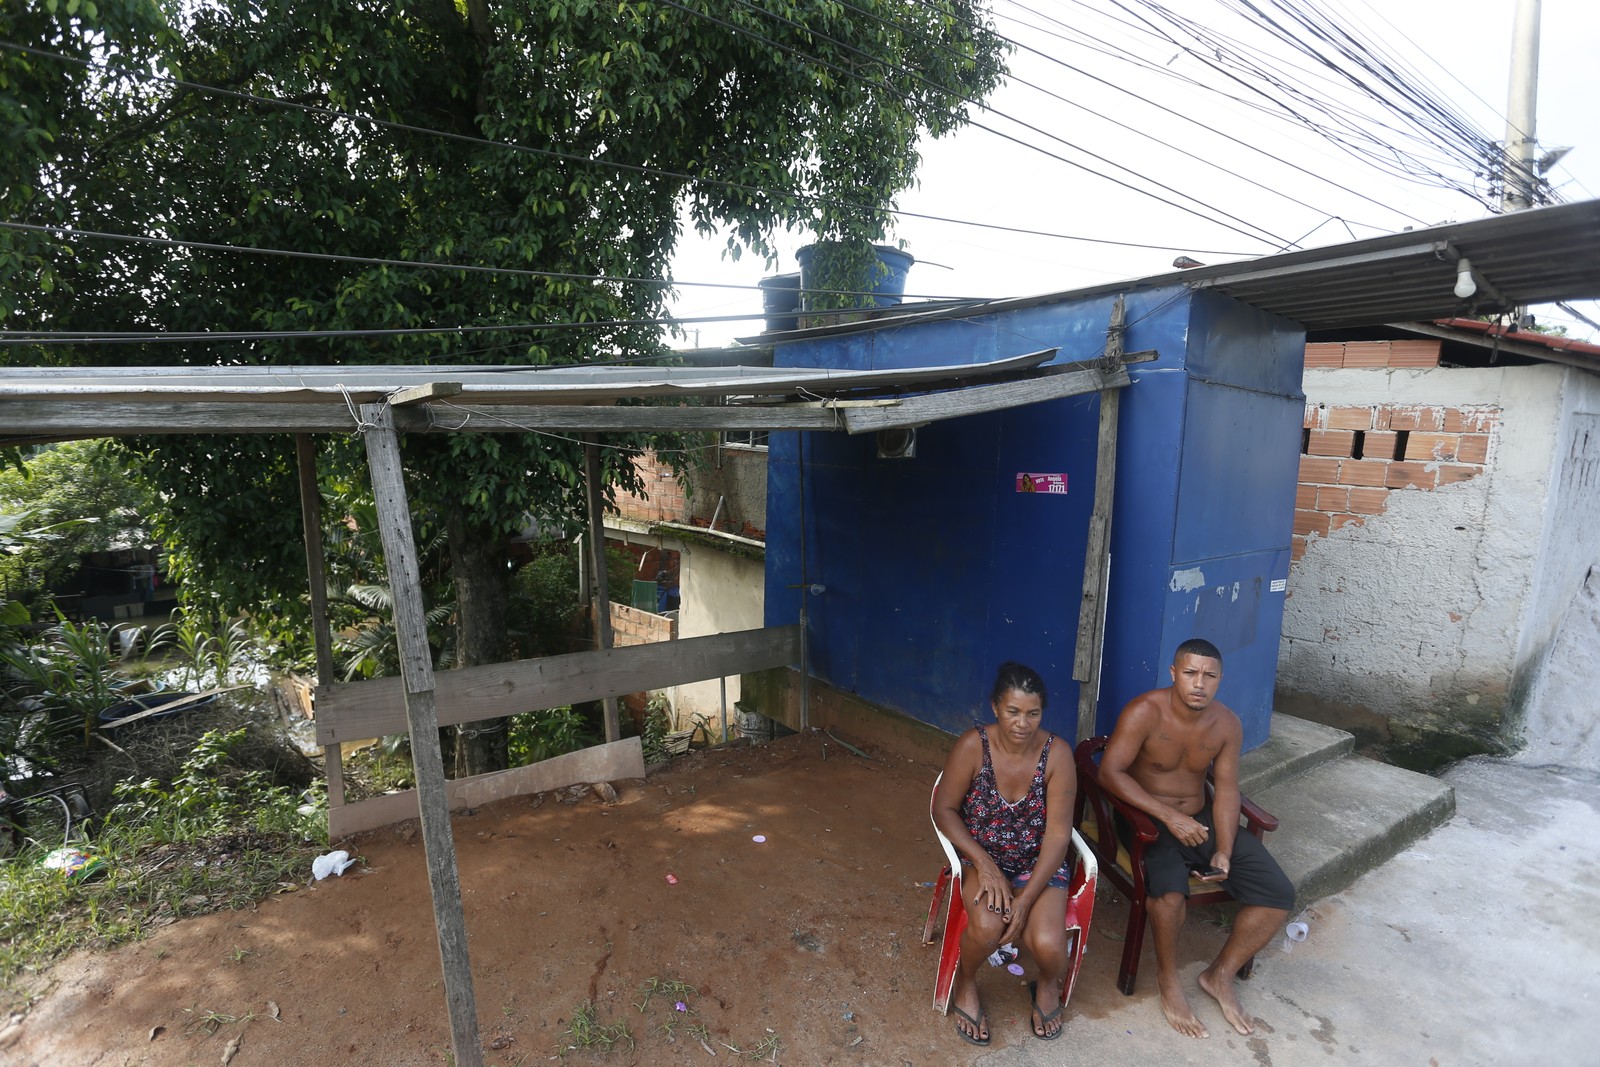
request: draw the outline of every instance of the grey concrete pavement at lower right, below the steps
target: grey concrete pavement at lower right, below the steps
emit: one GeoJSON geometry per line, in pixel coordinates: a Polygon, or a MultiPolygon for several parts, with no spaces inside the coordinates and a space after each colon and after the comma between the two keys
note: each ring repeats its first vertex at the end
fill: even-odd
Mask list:
{"type": "Polygon", "coordinates": [[[1600,1064],[1600,774],[1469,760],[1443,777],[1458,790],[1451,822],[1293,917],[1310,925],[1293,952],[1280,941],[1258,957],[1240,982],[1254,1035],[1195,985],[1221,944],[1218,915],[1195,909],[1181,942],[1211,1032],[1194,1040],[1162,1016],[1149,937],[1136,993],[1117,992],[1126,905],[1109,902],[1061,1040],[1032,1038],[1026,987],[990,971],[979,989],[995,1046],[973,1062],[1600,1064]]]}

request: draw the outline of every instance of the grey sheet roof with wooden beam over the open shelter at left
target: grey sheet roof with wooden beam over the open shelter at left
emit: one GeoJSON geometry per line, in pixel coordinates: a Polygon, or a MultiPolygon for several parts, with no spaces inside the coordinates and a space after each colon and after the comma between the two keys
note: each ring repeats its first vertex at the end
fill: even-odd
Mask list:
{"type": "MultiPolygon", "coordinates": [[[[133,434],[347,434],[389,403],[405,432],[843,430],[922,426],[1128,384],[1056,349],[891,370],[762,366],[8,368],[0,445],[133,434]],[[642,398],[667,403],[637,403],[642,398]],[[672,403],[678,402],[678,403],[672,403]]],[[[1130,357],[1133,360],[1134,357],[1130,357]]]]}

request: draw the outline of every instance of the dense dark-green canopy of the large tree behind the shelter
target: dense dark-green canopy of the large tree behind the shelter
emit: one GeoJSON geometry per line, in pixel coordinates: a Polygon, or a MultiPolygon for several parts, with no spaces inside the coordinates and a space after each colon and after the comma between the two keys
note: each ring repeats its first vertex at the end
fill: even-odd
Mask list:
{"type": "MultiPolygon", "coordinates": [[[[18,0],[0,45],[16,146],[0,216],[78,232],[0,229],[6,328],[434,331],[5,349],[27,363],[661,355],[683,219],[758,253],[784,226],[882,240],[920,139],[962,125],[1002,75],[968,0],[18,0]]],[[[627,450],[648,442],[610,443],[606,475],[626,482],[627,450]]],[[[341,469],[360,459],[358,443],[325,448],[341,469]]],[[[184,577],[230,606],[291,609],[291,446],[136,450],[184,577]]],[[[488,621],[485,645],[464,633],[464,662],[493,659],[504,534],[581,514],[579,451],[430,437],[406,462],[416,507],[448,531],[461,624],[488,621]]]]}

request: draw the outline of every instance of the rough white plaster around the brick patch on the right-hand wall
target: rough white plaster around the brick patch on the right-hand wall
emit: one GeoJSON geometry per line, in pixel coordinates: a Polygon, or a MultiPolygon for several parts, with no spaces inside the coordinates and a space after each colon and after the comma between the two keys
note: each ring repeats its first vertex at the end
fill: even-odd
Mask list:
{"type": "Polygon", "coordinates": [[[1485,474],[1387,496],[1312,537],[1290,573],[1280,693],[1390,721],[1498,723],[1531,609],[1552,491],[1555,366],[1306,373],[1307,403],[1502,410],[1485,474]]]}

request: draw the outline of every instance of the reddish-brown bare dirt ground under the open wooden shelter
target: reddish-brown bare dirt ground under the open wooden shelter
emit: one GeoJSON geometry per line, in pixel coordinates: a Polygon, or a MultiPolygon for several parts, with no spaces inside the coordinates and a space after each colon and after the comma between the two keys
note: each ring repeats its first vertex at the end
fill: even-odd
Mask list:
{"type": "MultiPolygon", "coordinates": [[[[693,752],[618,782],[616,805],[549,793],[459,814],[485,1062],[978,1059],[931,1008],[938,949],[922,945],[942,862],[928,827],[938,768],[874,757],[811,733],[693,752]],[[573,1048],[584,1001],[630,1040],[573,1048]]],[[[254,910],[58,963],[50,992],[0,1030],[0,1059],[219,1064],[237,1040],[232,1067],[453,1062],[421,833],[402,824],[346,846],[362,862],[339,878],[307,872],[254,910]]],[[[1096,925],[1112,937],[1117,907],[1102,897],[1096,925]]],[[[1069,1019],[1126,1003],[1118,952],[1091,937],[1069,1019]]],[[[994,1048],[1032,1040],[1024,981],[984,968],[994,1048]]]]}

